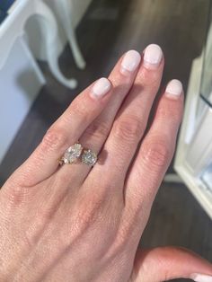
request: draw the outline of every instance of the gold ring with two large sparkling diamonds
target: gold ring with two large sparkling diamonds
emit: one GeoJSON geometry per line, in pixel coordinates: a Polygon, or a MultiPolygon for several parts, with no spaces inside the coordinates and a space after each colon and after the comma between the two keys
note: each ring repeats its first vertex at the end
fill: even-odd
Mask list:
{"type": "Polygon", "coordinates": [[[80,157],[81,162],[89,166],[93,166],[98,160],[97,154],[92,150],[84,149],[83,145],[76,143],[66,149],[66,152],[58,162],[60,165],[75,163],[80,157]]]}

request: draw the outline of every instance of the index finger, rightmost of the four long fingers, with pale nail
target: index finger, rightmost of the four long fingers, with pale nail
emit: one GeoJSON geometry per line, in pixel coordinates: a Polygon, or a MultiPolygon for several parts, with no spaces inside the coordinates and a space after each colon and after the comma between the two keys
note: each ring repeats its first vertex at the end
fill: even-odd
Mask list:
{"type": "Polygon", "coordinates": [[[158,102],[155,118],[141,143],[126,183],[126,204],[137,214],[151,208],[157,189],[172,160],[181,124],[183,91],[172,80],[158,102]]]}

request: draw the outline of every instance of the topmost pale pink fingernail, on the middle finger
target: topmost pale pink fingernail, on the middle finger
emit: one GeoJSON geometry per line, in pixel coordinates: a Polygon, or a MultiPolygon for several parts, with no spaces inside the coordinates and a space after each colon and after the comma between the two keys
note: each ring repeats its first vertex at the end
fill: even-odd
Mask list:
{"type": "Polygon", "coordinates": [[[163,51],[160,46],[150,44],[145,49],[144,65],[147,68],[156,68],[160,65],[163,58],[163,51]]]}

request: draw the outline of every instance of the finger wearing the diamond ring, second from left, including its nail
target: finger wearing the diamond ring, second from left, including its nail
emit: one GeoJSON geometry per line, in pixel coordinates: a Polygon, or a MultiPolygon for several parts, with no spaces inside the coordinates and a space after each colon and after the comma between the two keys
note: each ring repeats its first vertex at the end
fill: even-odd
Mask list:
{"type": "MultiPolygon", "coordinates": [[[[85,148],[93,150],[96,154],[99,154],[101,151],[102,145],[110,133],[110,128],[117,111],[134,83],[140,60],[141,56],[135,50],[128,51],[119,59],[118,64],[114,67],[109,76],[113,84],[112,98],[107,107],[102,110],[101,115],[90,124],[79,140],[85,148]]],[[[76,163],[72,172],[70,172],[70,168],[66,166],[63,171],[58,173],[61,178],[65,178],[66,175],[68,175],[71,181],[73,181],[74,178],[75,184],[78,186],[84,182],[90,170],[91,167],[82,163],[76,163]]]]}

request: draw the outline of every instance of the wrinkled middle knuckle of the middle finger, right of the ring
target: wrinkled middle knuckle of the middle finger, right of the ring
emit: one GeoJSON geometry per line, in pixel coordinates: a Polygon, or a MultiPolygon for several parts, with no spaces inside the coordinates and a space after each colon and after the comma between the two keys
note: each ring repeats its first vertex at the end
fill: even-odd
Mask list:
{"type": "Polygon", "coordinates": [[[114,123],[114,136],[131,143],[142,136],[144,128],[144,123],[137,117],[119,119],[114,123]]]}

